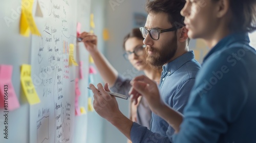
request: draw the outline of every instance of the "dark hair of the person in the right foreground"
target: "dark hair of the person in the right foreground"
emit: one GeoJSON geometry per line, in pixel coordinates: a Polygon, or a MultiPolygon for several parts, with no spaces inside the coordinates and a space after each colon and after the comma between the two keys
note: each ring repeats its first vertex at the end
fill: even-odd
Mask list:
{"type": "Polygon", "coordinates": [[[232,12],[232,19],[229,23],[230,31],[253,32],[256,30],[256,1],[230,0],[229,3],[232,12]]]}

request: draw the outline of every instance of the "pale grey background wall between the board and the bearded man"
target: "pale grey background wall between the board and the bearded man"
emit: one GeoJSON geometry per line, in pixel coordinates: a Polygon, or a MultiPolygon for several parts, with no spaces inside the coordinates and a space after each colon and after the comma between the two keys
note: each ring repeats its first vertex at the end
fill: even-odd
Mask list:
{"type": "MultiPolygon", "coordinates": [[[[110,40],[106,42],[105,56],[110,61],[110,63],[126,77],[136,76],[138,71],[133,71],[129,74],[129,70],[132,69],[132,65],[129,61],[123,58],[123,37],[131,31],[133,28],[133,12],[144,12],[143,5],[144,0],[113,0],[112,2],[121,2],[118,6],[111,7],[109,3],[106,2],[106,27],[110,31],[110,40]]],[[[145,12],[144,12],[145,13],[145,12]]],[[[129,101],[118,100],[119,108],[124,113],[128,115],[129,101]]],[[[104,120],[105,121],[105,120],[104,120]]],[[[126,137],[117,130],[112,124],[105,121],[105,140],[104,143],[113,142],[126,142],[126,137]]]]}

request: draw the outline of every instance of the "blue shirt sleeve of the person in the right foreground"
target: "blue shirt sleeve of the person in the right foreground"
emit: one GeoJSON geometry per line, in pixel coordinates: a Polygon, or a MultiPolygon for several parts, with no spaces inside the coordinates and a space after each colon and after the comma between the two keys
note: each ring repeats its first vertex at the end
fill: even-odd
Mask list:
{"type": "Polygon", "coordinates": [[[217,142],[238,118],[248,96],[248,77],[245,61],[241,58],[236,64],[229,63],[230,55],[230,52],[217,53],[204,63],[173,142],[217,142]]]}

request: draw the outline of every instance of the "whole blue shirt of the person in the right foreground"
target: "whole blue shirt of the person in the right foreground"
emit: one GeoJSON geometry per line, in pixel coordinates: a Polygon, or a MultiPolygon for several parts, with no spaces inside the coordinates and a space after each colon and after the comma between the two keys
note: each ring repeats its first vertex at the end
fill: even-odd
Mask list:
{"type": "Polygon", "coordinates": [[[173,142],[256,142],[256,52],[247,33],[228,35],[204,58],[173,142]]]}

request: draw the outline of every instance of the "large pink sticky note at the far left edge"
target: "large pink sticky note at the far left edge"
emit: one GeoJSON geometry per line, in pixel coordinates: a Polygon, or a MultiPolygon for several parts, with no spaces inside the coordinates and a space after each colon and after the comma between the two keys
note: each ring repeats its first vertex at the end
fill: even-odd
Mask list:
{"type": "Polygon", "coordinates": [[[14,110],[19,107],[12,85],[12,65],[0,65],[0,108],[14,110]]]}

